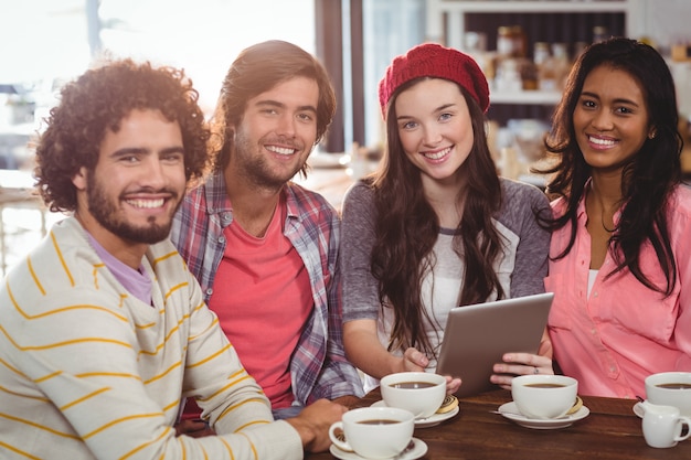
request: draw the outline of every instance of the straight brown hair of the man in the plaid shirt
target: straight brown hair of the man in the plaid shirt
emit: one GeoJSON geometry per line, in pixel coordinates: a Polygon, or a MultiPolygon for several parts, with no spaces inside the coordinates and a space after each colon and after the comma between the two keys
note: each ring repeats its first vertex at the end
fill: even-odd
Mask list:
{"type": "MultiPolygon", "coordinates": [[[[336,114],[336,92],[321,63],[301,47],[280,40],[269,40],[243,50],[228,68],[212,120],[211,149],[214,169],[223,170],[234,148],[233,130],[243,119],[247,101],[290,78],[311,78],[319,87],[317,140],[326,135],[336,114]]],[[[306,173],[307,163],[300,170],[306,173]]]]}

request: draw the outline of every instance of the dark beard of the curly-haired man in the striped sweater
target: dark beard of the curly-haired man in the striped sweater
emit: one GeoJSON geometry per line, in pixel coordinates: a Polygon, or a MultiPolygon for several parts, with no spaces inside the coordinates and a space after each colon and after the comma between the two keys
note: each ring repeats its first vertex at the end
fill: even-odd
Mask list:
{"type": "MultiPolygon", "coordinates": [[[[137,227],[130,225],[129,222],[117,218],[118,208],[115,203],[108,200],[107,194],[96,183],[94,174],[87,175],[88,186],[88,211],[94,218],[108,232],[120,238],[145,244],[156,244],[168,237],[170,228],[172,226],[172,216],[166,224],[157,224],[156,217],[150,217],[150,225],[137,227]]],[[[172,194],[172,200],[178,200],[178,193],[174,191],[168,191],[172,194]]],[[[178,201],[176,210],[180,207],[181,201],[178,201]]],[[[173,213],[174,214],[174,213],[173,213]]]]}

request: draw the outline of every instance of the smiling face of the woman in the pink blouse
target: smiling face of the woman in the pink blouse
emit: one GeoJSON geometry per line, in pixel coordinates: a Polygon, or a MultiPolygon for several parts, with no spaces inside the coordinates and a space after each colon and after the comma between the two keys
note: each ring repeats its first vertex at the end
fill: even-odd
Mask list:
{"type": "Polygon", "coordinates": [[[644,89],[629,73],[595,67],[583,84],[573,114],[585,161],[594,169],[618,171],[653,135],[644,89]]]}

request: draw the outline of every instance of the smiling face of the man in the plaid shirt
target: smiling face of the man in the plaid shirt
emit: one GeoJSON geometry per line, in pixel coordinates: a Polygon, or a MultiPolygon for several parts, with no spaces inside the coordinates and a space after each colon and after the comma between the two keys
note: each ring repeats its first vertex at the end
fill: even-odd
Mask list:
{"type": "Polygon", "coordinates": [[[295,77],[247,101],[235,127],[230,168],[235,178],[280,188],[302,168],[317,141],[319,87],[295,77]]]}

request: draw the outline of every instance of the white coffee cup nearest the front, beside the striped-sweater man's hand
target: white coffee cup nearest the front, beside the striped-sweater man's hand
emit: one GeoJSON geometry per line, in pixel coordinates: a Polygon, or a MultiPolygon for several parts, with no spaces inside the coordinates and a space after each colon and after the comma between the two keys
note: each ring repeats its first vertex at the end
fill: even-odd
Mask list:
{"type": "Polygon", "coordinates": [[[365,459],[389,459],[397,456],[413,438],[415,417],[395,407],[362,407],[343,414],[341,421],[329,428],[331,442],[341,450],[354,451],[365,459]],[[336,436],[342,430],[346,440],[336,436]]]}

